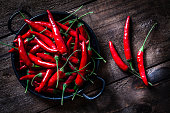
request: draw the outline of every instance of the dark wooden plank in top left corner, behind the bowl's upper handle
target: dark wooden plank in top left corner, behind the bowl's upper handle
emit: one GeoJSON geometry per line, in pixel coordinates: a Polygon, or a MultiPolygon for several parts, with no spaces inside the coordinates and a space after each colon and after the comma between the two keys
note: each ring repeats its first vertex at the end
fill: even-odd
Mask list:
{"type": "MultiPolygon", "coordinates": [[[[44,1],[44,0],[17,0],[8,1],[1,0],[0,2],[0,37],[10,33],[8,30],[8,19],[19,9],[25,9],[32,16],[46,12],[47,9],[54,11],[70,11],[83,4],[93,2],[94,0],[55,0],[55,1],[44,1]]],[[[13,28],[17,30],[23,25],[24,21],[21,16],[16,17],[13,22],[13,28]],[[17,24],[15,24],[17,23],[17,24]]]]}

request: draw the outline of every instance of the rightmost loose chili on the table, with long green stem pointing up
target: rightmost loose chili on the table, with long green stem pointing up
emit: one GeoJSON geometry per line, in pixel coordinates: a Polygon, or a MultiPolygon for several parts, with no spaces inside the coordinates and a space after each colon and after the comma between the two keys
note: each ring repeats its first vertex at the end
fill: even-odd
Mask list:
{"type": "Polygon", "coordinates": [[[147,38],[149,37],[149,34],[153,30],[153,28],[156,26],[156,24],[157,23],[155,23],[152,26],[152,28],[150,29],[150,31],[148,32],[142,47],[139,49],[139,51],[137,53],[137,63],[138,63],[139,74],[140,74],[144,84],[147,85],[147,86],[148,86],[148,81],[147,81],[147,77],[146,77],[146,73],[145,73],[145,68],[144,68],[144,62],[143,62],[143,50],[144,50],[145,42],[146,42],[147,38]]]}

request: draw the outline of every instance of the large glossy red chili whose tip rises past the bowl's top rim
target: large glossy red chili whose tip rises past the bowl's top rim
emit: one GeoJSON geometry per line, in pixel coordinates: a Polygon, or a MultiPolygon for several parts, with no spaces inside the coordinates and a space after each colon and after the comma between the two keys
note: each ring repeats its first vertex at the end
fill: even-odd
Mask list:
{"type": "Polygon", "coordinates": [[[64,40],[63,40],[63,38],[62,38],[62,36],[60,34],[59,28],[56,25],[51,12],[49,10],[47,10],[47,13],[48,13],[49,21],[50,21],[50,23],[52,25],[52,33],[53,33],[55,43],[57,45],[57,49],[59,50],[59,52],[61,54],[65,54],[65,53],[67,53],[67,47],[66,47],[66,45],[64,43],[64,40]]]}

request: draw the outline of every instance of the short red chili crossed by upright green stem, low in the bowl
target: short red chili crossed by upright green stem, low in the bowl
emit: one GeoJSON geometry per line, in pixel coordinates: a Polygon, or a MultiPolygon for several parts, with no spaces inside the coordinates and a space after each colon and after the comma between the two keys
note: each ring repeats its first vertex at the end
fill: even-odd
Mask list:
{"type": "MultiPolygon", "coordinates": [[[[66,75],[64,72],[59,70],[59,79],[65,78],[66,75]]],[[[55,85],[57,84],[57,72],[50,78],[50,80],[48,81],[48,87],[55,87],[55,85]]]]}

